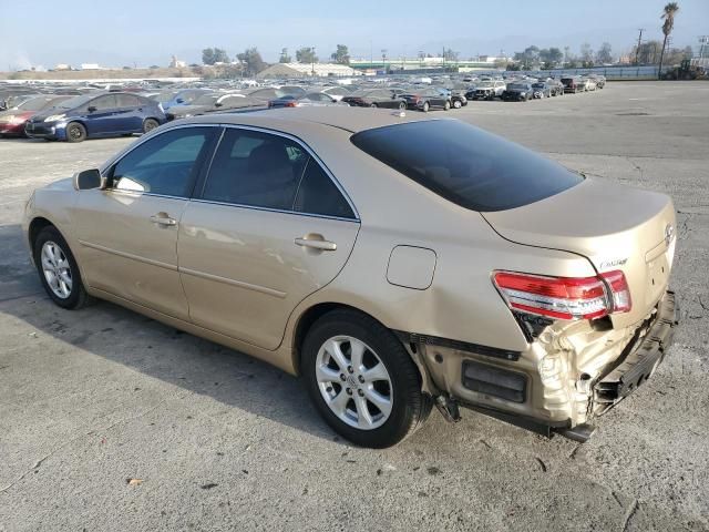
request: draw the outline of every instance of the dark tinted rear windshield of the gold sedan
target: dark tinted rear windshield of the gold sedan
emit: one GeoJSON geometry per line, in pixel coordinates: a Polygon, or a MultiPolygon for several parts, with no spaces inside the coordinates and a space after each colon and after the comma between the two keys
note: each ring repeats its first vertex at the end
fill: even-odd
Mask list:
{"type": "Polygon", "coordinates": [[[583,176],[458,120],[366,130],[352,143],[438,195],[472,211],[521,207],[553,196],[583,176]]]}

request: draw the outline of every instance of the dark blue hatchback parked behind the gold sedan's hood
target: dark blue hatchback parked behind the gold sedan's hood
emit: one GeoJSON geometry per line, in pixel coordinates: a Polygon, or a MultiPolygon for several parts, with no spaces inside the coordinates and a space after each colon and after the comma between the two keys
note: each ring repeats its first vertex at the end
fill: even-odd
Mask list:
{"type": "Polygon", "coordinates": [[[24,132],[30,139],[82,142],[147,133],[163,123],[165,113],[157,102],[126,92],[104,92],[64,100],[32,116],[24,132]]]}

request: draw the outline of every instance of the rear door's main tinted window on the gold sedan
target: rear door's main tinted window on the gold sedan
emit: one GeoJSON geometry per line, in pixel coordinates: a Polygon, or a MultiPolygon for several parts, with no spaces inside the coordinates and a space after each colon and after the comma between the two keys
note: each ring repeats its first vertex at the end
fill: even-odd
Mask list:
{"type": "Polygon", "coordinates": [[[278,135],[228,129],[219,143],[203,197],[216,202],[292,209],[308,154],[278,135]]]}

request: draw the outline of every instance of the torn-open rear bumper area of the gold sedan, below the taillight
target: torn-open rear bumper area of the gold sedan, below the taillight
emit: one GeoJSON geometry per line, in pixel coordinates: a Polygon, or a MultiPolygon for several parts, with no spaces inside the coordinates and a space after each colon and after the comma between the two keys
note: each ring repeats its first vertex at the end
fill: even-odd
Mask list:
{"type": "Polygon", "coordinates": [[[572,364],[577,351],[566,335],[556,340],[543,335],[524,352],[401,331],[399,336],[405,346],[415,346],[411,352],[427,376],[425,391],[436,398],[446,419],[458,418],[460,405],[545,436],[585,441],[595,417],[654,374],[672,344],[678,320],[675,294],[666,291],[635,331],[595,331],[572,324],[579,327],[574,335],[580,348],[593,349],[580,367],[572,364]],[[589,337],[593,344],[584,344],[589,337]],[[553,375],[541,374],[545,357],[556,358],[553,375]],[[597,364],[603,358],[613,361],[597,364]]]}

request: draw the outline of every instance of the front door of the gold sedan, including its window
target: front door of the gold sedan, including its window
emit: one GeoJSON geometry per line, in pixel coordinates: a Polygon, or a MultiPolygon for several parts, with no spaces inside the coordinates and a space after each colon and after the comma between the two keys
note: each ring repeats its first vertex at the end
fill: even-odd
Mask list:
{"type": "Polygon", "coordinates": [[[179,218],[218,127],[168,130],[138,144],[82,191],[72,213],[89,286],[188,319],[177,272],[179,218]]]}

